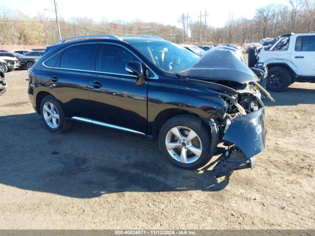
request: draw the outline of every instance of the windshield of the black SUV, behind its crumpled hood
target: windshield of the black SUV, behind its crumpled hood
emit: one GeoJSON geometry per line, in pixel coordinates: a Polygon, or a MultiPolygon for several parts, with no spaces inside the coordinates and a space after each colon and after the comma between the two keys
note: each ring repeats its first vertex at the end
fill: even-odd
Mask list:
{"type": "Polygon", "coordinates": [[[178,73],[189,69],[200,57],[169,41],[134,43],[132,46],[159,69],[178,73]]]}

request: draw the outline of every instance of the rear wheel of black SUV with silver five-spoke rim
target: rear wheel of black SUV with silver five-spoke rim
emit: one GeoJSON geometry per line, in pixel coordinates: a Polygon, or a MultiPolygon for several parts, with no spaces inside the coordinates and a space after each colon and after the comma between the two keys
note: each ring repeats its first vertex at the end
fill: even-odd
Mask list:
{"type": "Polygon", "coordinates": [[[52,95],[45,96],[40,103],[40,115],[45,126],[52,132],[63,133],[72,127],[64,118],[60,102],[52,95]]]}

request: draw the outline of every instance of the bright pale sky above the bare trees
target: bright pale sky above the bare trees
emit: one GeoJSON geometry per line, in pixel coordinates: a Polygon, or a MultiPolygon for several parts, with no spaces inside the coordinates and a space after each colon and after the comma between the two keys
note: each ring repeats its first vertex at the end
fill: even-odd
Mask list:
{"type": "MultiPolygon", "coordinates": [[[[29,16],[44,13],[54,17],[45,8],[54,8],[54,0],[0,0],[1,6],[19,10],[29,16]]],[[[90,17],[95,21],[102,18],[108,21],[123,20],[158,22],[177,25],[180,15],[189,13],[191,20],[198,20],[198,15],[207,10],[207,23],[221,27],[227,21],[229,12],[234,18],[252,18],[255,9],[269,3],[287,4],[287,0],[57,0],[59,14],[68,19],[71,17],[90,17]]],[[[204,18],[203,18],[204,20],[204,18]]]]}

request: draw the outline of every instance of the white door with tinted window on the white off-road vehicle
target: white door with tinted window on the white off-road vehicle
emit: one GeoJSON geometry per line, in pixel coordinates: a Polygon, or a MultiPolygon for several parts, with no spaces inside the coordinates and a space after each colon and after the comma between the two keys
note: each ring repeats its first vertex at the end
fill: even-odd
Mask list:
{"type": "Polygon", "coordinates": [[[315,76],[315,35],[296,37],[291,60],[304,76],[315,76]]]}

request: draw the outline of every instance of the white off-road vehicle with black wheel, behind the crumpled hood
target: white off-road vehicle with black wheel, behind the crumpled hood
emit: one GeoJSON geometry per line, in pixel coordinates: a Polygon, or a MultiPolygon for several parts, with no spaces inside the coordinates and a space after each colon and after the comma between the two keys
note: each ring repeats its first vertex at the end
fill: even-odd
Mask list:
{"type": "Polygon", "coordinates": [[[254,67],[268,68],[268,90],[283,91],[294,82],[315,83],[315,32],[283,35],[256,52],[254,67]]]}

